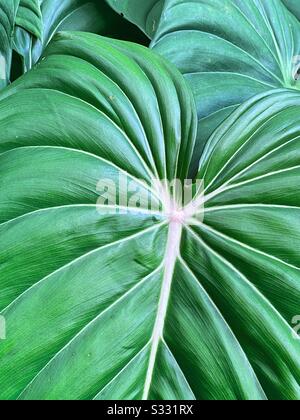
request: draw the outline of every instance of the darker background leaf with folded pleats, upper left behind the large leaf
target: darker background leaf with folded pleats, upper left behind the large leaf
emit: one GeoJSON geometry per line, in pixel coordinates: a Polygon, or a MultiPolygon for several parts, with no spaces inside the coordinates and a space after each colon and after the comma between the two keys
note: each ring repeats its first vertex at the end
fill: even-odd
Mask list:
{"type": "Polygon", "coordinates": [[[94,32],[144,44],[146,37],[118,16],[104,0],[22,0],[14,30],[11,80],[20,77],[40,59],[59,31],[94,32]]]}

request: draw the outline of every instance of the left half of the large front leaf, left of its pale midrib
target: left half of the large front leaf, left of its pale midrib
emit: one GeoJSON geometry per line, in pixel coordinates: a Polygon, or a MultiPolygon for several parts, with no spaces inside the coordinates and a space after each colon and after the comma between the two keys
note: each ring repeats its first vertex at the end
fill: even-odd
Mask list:
{"type": "Polygon", "coordinates": [[[184,178],[193,100],[181,75],[151,51],[68,34],[3,92],[0,107],[0,306],[8,329],[0,396],[93,398],[143,348],[147,364],[167,237],[161,215],[97,212],[97,183],[118,185],[126,172],[133,191],[151,194],[143,182],[154,176],[184,178]],[[67,368],[60,357],[70,350],[73,368],[49,387],[48,368],[67,368]]]}

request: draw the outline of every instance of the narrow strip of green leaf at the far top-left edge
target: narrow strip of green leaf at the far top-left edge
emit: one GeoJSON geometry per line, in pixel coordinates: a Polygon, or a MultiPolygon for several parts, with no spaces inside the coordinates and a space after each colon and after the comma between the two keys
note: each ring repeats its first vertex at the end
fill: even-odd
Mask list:
{"type": "Polygon", "coordinates": [[[12,33],[19,0],[0,0],[0,90],[9,83],[12,33]]]}

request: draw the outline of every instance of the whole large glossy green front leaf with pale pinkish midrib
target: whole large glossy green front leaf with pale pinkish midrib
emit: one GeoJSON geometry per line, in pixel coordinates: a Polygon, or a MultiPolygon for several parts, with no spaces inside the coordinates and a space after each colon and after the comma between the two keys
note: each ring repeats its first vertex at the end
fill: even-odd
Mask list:
{"type": "Polygon", "coordinates": [[[288,90],[239,108],[183,211],[153,183],[189,171],[182,76],[57,35],[0,96],[0,398],[299,399],[299,111],[288,90]],[[99,204],[103,179],[130,182],[129,208],[99,204]]]}

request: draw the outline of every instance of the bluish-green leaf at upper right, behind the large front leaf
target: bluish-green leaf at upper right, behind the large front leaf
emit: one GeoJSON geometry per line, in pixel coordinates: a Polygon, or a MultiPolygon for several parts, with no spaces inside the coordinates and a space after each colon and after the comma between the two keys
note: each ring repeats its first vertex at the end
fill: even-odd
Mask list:
{"type": "MultiPolygon", "coordinates": [[[[138,21],[134,0],[125,4],[138,21]]],[[[153,1],[143,4],[147,10],[153,1]]],[[[237,106],[271,89],[299,89],[300,23],[281,0],[165,0],[152,38],[152,48],[185,75],[196,98],[193,175],[207,139],[237,106]]]]}

